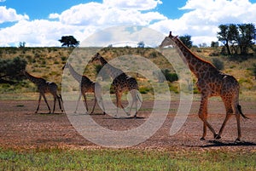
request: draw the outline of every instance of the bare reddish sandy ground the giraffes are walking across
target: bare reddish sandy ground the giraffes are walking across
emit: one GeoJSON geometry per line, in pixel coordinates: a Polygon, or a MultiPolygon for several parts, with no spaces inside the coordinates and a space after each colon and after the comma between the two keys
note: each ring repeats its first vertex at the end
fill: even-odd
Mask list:
{"type": "MultiPolygon", "coordinates": [[[[52,105],[52,101],[49,101],[52,105]]],[[[90,101],[92,104],[92,101],[90,101]]],[[[47,114],[44,101],[41,103],[39,113],[34,111],[37,106],[36,100],[1,100],[0,101],[0,147],[2,148],[102,148],[83,136],[73,128],[65,113],[61,113],[56,106],[55,114],[47,114]]],[[[199,101],[194,101],[189,117],[183,127],[175,135],[170,135],[178,102],[171,104],[171,110],[166,117],[162,127],[148,140],[134,145],[135,149],[226,149],[229,151],[256,151],[256,111],[254,102],[243,102],[243,112],[250,120],[241,119],[241,142],[235,142],[237,136],[236,117],[230,118],[222,139],[214,140],[212,133],[208,130],[206,140],[200,140],[202,134],[202,122],[197,116],[199,101]]],[[[144,101],[137,119],[116,119],[109,115],[102,115],[99,108],[91,117],[96,123],[105,128],[125,130],[136,128],[147,121],[150,115],[150,107],[153,102],[144,101]]],[[[211,101],[209,104],[208,121],[212,123],[216,132],[224,121],[224,105],[221,101],[211,101]]]]}

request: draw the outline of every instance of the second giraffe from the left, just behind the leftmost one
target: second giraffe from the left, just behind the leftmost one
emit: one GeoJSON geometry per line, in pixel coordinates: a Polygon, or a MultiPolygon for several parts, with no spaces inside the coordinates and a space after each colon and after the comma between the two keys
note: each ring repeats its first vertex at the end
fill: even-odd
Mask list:
{"type": "MultiPolygon", "coordinates": [[[[86,100],[86,93],[93,93],[94,94],[94,105],[92,107],[92,111],[90,112],[90,114],[93,113],[95,106],[96,106],[96,94],[101,94],[101,85],[99,83],[94,83],[92,81],[90,81],[90,79],[86,76],[82,76],[80,75],[77,71],[75,71],[73,69],[73,66],[71,66],[71,64],[69,64],[67,62],[67,64],[65,66],[62,67],[62,69],[64,69],[65,67],[67,67],[71,73],[71,75],[79,82],[80,84],[80,94],[79,94],[79,100],[81,99],[81,96],[84,96],[84,106],[86,108],[86,111],[88,111],[88,105],[87,105],[87,100],[86,100]]],[[[105,114],[105,108],[103,105],[103,101],[102,101],[102,97],[97,97],[98,101],[102,103],[102,108],[103,108],[103,114],[105,114]]],[[[78,111],[79,108],[79,100],[77,101],[76,104],[76,109],[75,109],[75,113],[78,111]]]]}

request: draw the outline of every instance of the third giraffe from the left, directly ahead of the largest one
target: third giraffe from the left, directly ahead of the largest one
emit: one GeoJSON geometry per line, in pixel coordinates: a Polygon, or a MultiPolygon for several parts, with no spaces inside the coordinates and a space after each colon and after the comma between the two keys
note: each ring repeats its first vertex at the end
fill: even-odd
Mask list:
{"type": "MultiPolygon", "coordinates": [[[[138,90],[137,80],[134,77],[130,77],[125,74],[122,70],[115,68],[108,64],[108,61],[105,60],[99,53],[96,53],[92,57],[92,61],[100,60],[102,66],[106,67],[106,72],[110,77],[113,78],[113,89],[116,96],[116,105],[117,105],[117,113],[119,110],[119,107],[122,108],[125,111],[124,106],[121,103],[121,97],[122,94],[128,90],[131,92],[132,102],[131,102],[131,108],[132,105],[135,103],[136,112],[134,117],[137,117],[137,100],[140,100],[136,90],[138,90]]],[[[141,101],[141,100],[140,100],[141,101]]],[[[131,108],[129,112],[126,112],[127,116],[131,115],[131,108]]]]}

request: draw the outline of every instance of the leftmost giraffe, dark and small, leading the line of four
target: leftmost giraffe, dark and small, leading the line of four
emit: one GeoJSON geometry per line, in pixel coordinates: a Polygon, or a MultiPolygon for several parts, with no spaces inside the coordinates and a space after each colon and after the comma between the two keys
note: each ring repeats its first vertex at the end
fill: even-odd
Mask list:
{"type": "Polygon", "coordinates": [[[61,112],[63,112],[62,108],[61,108],[61,94],[57,94],[57,89],[58,89],[58,86],[56,83],[53,83],[53,82],[48,82],[46,81],[44,78],[42,77],[34,77],[32,76],[30,73],[28,73],[27,71],[23,70],[22,71],[23,74],[34,84],[36,84],[38,86],[38,91],[39,91],[39,99],[38,99],[38,107],[37,107],[37,110],[35,111],[35,113],[38,113],[38,110],[39,110],[39,105],[40,105],[40,102],[41,102],[41,98],[42,96],[44,97],[44,101],[49,109],[49,113],[50,113],[50,108],[49,108],[49,104],[46,100],[46,97],[45,97],[45,94],[46,93],[50,93],[53,95],[54,97],[54,108],[53,108],[53,111],[52,113],[55,112],[55,103],[56,103],[56,100],[58,100],[59,102],[59,106],[60,106],[60,110],[61,112]]]}

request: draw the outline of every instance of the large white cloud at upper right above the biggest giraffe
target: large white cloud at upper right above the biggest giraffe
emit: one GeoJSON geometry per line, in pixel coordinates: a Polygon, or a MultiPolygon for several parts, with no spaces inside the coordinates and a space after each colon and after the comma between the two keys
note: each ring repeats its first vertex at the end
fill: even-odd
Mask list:
{"type": "Polygon", "coordinates": [[[160,20],[150,27],[166,34],[169,31],[177,35],[189,34],[194,44],[210,44],[217,41],[221,24],[256,24],[256,3],[248,0],[189,0],[183,9],[189,9],[189,12],[181,18],[160,20]]]}

